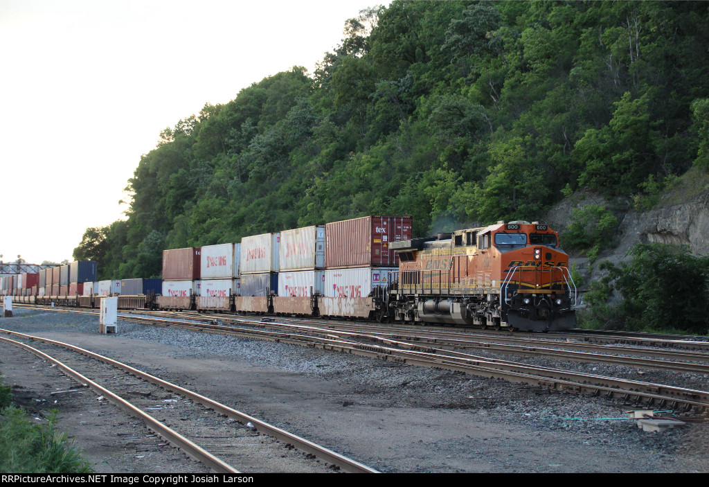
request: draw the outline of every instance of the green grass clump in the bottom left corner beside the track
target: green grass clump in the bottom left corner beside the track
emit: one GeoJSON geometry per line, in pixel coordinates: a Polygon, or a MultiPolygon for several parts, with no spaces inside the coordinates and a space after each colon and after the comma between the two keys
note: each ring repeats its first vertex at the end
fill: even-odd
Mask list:
{"type": "Polygon", "coordinates": [[[13,474],[78,474],[91,472],[89,463],[55,426],[30,421],[25,410],[11,405],[11,390],[0,385],[0,471],[13,474]]]}

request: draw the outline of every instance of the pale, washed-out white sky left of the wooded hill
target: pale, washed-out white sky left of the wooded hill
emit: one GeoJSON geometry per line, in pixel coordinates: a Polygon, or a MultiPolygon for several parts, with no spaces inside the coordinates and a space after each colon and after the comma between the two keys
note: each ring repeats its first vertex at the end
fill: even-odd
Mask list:
{"type": "Polygon", "coordinates": [[[72,261],[160,131],[312,73],[376,0],[0,0],[0,257],[72,261]]]}

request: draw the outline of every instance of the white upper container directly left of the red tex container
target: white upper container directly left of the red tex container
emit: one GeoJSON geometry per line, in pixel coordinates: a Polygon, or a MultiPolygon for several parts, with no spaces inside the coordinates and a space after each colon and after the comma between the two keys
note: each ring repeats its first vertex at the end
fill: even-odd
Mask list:
{"type": "Polygon", "coordinates": [[[325,225],[281,232],[281,271],[325,269],[325,225]]]}

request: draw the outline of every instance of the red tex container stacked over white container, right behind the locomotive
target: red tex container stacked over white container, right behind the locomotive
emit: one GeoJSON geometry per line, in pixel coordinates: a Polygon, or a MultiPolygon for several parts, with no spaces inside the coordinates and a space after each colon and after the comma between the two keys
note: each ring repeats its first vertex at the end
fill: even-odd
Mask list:
{"type": "Polygon", "coordinates": [[[398,267],[398,254],[389,244],[411,235],[410,216],[365,216],[325,225],[320,315],[370,317],[398,267]]]}

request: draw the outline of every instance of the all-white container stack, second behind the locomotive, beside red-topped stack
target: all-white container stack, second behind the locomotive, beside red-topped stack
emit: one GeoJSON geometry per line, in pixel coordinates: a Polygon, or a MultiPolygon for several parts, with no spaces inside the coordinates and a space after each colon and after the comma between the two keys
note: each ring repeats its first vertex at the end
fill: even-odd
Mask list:
{"type": "Polygon", "coordinates": [[[281,232],[276,313],[311,314],[325,285],[325,226],[281,232]]]}

